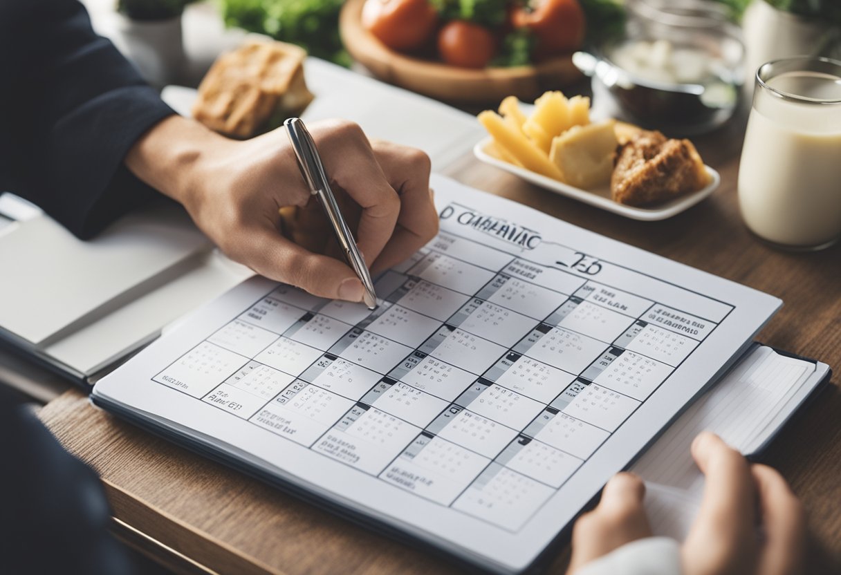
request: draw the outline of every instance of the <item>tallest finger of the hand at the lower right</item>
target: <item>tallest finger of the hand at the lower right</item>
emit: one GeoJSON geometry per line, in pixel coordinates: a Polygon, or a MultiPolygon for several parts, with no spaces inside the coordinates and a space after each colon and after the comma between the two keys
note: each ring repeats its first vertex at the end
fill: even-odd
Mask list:
{"type": "Polygon", "coordinates": [[[717,435],[701,433],[692,457],[705,475],[701,509],[684,544],[697,572],[750,572],[756,550],[754,484],[748,462],[717,435]]]}

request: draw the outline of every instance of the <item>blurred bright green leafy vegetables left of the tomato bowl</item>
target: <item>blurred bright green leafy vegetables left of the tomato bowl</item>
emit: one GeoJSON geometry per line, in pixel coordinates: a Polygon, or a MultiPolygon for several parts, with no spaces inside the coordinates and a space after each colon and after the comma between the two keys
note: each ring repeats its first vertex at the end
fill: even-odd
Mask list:
{"type": "Polygon", "coordinates": [[[222,0],[225,24],[297,44],[310,55],[350,66],[341,45],[343,0],[222,0]]]}

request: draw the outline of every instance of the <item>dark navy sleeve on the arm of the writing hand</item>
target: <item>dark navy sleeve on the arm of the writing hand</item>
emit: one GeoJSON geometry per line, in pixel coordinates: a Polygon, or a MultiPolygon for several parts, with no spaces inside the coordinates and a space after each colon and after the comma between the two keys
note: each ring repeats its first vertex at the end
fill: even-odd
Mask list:
{"type": "Polygon", "coordinates": [[[77,0],[0,0],[0,192],[89,238],[156,195],[123,159],[172,113],[77,0]]]}

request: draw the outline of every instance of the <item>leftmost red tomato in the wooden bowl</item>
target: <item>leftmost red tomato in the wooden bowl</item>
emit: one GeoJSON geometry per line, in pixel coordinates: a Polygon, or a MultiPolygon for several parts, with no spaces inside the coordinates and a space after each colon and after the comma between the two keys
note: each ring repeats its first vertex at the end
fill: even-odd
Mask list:
{"type": "Polygon", "coordinates": [[[420,48],[437,24],[427,0],[367,0],[362,6],[362,26],[393,50],[420,48]]]}

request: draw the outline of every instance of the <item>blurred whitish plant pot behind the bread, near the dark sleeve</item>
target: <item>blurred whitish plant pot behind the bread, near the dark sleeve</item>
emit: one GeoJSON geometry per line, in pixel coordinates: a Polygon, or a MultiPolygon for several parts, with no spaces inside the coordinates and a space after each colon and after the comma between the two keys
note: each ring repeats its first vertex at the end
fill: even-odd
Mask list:
{"type": "Polygon", "coordinates": [[[181,16],[144,21],[119,15],[119,47],[154,87],[177,84],[182,78],[185,56],[181,24],[181,16]]]}

